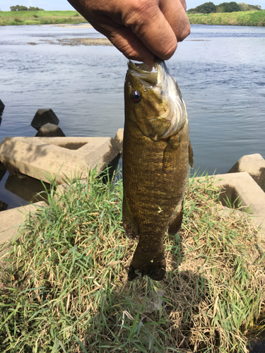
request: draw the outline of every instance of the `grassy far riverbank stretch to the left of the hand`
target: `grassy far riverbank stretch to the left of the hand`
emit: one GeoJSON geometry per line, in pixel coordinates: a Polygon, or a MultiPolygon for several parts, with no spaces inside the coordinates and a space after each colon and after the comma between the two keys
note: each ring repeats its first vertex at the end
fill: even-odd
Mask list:
{"type": "Polygon", "coordinates": [[[0,11],[0,25],[87,23],[76,11],[0,11]]]}

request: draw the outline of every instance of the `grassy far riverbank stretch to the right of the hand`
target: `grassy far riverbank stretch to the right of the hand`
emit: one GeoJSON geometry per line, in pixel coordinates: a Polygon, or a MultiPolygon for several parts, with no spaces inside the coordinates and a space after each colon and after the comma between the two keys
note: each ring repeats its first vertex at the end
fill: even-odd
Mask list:
{"type": "Polygon", "coordinates": [[[265,25],[265,10],[188,14],[192,25],[265,25]]]}

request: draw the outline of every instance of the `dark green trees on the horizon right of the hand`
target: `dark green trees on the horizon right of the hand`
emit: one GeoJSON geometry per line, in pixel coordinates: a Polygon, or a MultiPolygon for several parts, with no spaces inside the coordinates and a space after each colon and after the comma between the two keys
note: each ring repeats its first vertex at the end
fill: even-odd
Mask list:
{"type": "Polygon", "coordinates": [[[248,5],[244,2],[236,3],[235,1],[223,2],[215,5],[211,1],[206,2],[196,8],[190,8],[187,13],[216,13],[216,12],[237,12],[237,11],[259,11],[260,5],[248,5]]]}

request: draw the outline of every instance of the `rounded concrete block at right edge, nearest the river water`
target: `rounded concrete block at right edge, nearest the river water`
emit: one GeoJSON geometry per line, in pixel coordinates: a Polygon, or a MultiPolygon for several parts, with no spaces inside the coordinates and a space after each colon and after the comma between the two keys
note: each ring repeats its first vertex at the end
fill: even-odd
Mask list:
{"type": "Polygon", "coordinates": [[[259,153],[244,155],[228,171],[228,173],[238,172],[248,172],[261,189],[265,191],[265,160],[259,153]]]}

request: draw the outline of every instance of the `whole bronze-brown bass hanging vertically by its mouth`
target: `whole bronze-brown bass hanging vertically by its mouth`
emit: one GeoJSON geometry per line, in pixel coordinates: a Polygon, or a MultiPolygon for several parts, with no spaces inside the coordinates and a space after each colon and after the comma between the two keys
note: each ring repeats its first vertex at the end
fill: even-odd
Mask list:
{"type": "Polygon", "coordinates": [[[187,109],[165,61],[129,61],[124,84],[122,222],[139,239],[128,280],[163,280],[164,237],[182,225],[183,198],[194,157],[187,109]]]}

